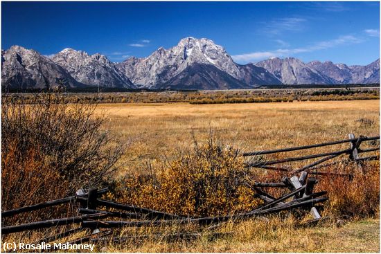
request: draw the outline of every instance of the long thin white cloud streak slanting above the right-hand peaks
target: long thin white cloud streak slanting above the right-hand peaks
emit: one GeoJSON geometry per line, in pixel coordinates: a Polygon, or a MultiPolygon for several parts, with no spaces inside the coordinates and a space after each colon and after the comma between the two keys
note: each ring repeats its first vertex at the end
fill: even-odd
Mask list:
{"type": "Polygon", "coordinates": [[[317,42],[316,44],[312,44],[311,46],[305,46],[301,48],[278,48],[274,51],[257,51],[242,55],[232,55],[231,57],[236,62],[254,62],[269,57],[287,57],[298,53],[319,51],[326,48],[333,48],[335,46],[346,44],[359,44],[361,42],[363,42],[362,39],[354,37],[353,35],[344,35],[336,39],[332,39],[330,41],[317,42]]]}

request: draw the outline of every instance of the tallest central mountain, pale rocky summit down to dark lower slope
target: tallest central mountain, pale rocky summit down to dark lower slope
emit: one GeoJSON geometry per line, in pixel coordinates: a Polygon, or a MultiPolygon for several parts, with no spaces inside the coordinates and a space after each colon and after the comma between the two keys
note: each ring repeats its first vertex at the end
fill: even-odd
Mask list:
{"type": "MultiPolygon", "coordinates": [[[[257,84],[269,84],[269,82],[280,84],[271,73],[264,69],[245,68],[236,64],[222,46],[205,38],[187,37],[168,50],[161,47],[149,57],[140,59],[131,57],[117,64],[117,67],[136,86],[147,88],[166,87],[170,80],[172,82],[181,80],[181,84],[174,83],[178,86],[205,87],[205,89],[222,89],[226,86],[252,88],[257,84]],[[197,69],[202,71],[202,74],[195,75],[194,71],[197,69]],[[210,75],[209,71],[212,72],[210,75]],[[224,73],[223,77],[218,73],[220,75],[224,73]],[[188,74],[189,77],[187,77],[188,74]],[[205,79],[206,75],[209,78],[205,79]],[[227,85],[222,83],[220,87],[215,87],[216,82],[227,79],[230,80],[227,85]],[[206,80],[209,80],[209,86],[206,80]]],[[[172,84],[169,85],[173,87],[172,84]]]]}

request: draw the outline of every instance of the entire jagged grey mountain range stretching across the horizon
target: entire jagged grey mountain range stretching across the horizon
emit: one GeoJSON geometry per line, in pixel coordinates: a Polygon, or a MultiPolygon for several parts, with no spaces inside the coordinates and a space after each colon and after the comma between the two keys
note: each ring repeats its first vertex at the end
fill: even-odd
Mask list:
{"type": "Polygon", "coordinates": [[[70,88],[251,89],[282,84],[373,83],[380,83],[379,59],[366,66],[347,66],[271,57],[242,65],[222,46],[205,38],[187,37],[172,48],[161,47],[148,57],[130,57],[120,63],[71,48],[52,57],[21,46],[1,51],[1,86],[5,89],[43,89],[58,84],[70,88]]]}

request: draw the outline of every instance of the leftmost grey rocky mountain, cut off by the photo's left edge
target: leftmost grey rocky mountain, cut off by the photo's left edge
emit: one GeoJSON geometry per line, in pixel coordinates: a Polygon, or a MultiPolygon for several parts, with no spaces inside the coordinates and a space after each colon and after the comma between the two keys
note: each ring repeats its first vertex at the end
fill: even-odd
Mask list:
{"type": "Polygon", "coordinates": [[[1,86],[4,89],[46,89],[59,84],[85,87],[60,65],[37,51],[12,46],[1,51],[1,86]]]}

